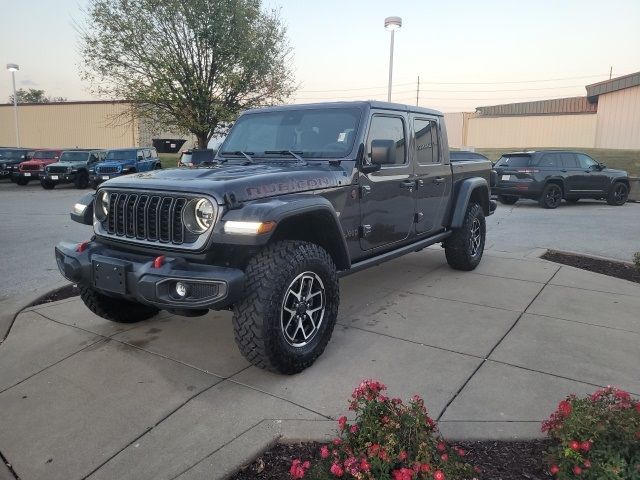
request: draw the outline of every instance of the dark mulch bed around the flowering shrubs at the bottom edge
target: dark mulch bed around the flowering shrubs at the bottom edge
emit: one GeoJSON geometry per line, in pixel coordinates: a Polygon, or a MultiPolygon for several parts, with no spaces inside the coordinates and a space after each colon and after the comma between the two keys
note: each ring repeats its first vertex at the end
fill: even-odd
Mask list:
{"type": "MultiPolygon", "coordinates": [[[[286,480],[291,462],[319,459],[320,443],[278,444],[240,469],[232,480],[286,480]]],[[[466,460],[480,468],[478,478],[484,480],[542,480],[552,478],[545,471],[544,451],[549,443],[481,441],[456,442],[467,451],[466,460]]]]}

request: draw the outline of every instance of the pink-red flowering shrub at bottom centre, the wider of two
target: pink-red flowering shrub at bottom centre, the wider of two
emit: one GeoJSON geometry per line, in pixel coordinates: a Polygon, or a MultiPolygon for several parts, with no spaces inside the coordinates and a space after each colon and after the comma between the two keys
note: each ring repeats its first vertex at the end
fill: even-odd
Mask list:
{"type": "Polygon", "coordinates": [[[291,477],[316,480],[471,479],[475,470],[464,450],[447,444],[418,396],[404,404],[383,395],[386,387],[365,380],[353,391],[355,421],[338,420],[338,436],[320,448],[311,465],[297,459],[291,477]]]}

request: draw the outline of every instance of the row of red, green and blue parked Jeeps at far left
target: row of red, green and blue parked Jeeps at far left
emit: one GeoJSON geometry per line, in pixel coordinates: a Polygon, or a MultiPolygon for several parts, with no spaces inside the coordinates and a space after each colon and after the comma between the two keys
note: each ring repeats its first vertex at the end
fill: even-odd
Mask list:
{"type": "Polygon", "coordinates": [[[105,180],[162,168],[155,148],[29,149],[0,148],[0,179],[42,188],[73,183],[94,189],[105,180]]]}

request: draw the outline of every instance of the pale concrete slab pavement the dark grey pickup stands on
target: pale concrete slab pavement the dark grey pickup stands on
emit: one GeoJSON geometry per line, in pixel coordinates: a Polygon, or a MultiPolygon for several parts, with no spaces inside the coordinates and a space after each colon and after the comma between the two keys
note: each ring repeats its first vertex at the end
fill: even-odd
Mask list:
{"type": "Polygon", "coordinates": [[[295,376],[249,366],[229,312],[28,309],[0,346],[0,452],[23,480],[223,478],[278,438],[324,438],[363,378],[422,395],[458,439],[538,436],[571,392],[640,392],[640,285],[485,255],[457,272],[429,248],[343,279],[333,338],[295,376]]]}

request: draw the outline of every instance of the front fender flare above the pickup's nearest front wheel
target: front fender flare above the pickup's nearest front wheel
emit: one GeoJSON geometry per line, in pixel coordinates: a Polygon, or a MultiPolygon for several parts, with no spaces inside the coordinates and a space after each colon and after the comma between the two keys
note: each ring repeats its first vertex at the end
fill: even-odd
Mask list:
{"type": "Polygon", "coordinates": [[[244,203],[241,208],[231,209],[223,214],[214,227],[213,237],[216,238],[217,243],[262,246],[268,244],[272,238],[278,237],[278,229],[283,223],[310,217],[322,221],[324,228],[334,229],[331,236],[338,238],[333,238],[332,244],[335,248],[330,253],[338,269],[349,268],[351,259],[339,214],[329,200],[319,195],[294,194],[244,203]],[[224,231],[224,224],[227,221],[271,221],[276,223],[276,228],[261,235],[232,234],[224,231]]]}

